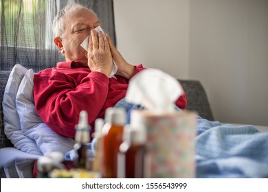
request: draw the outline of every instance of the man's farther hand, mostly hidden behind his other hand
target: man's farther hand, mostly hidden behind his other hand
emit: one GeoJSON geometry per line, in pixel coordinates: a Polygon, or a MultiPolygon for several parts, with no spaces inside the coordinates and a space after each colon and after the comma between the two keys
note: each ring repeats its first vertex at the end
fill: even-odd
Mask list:
{"type": "Polygon", "coordinates": [[[115,45],[113,45],[110,36],[108,36],[108,39],[111,49],[111,56],[113,57],[116,66],[118,67],[118,72],[116,75],[120,75],[129,80],[134,74],[135,67],[124,60],[118,49],[116,49],[115,45]]]}

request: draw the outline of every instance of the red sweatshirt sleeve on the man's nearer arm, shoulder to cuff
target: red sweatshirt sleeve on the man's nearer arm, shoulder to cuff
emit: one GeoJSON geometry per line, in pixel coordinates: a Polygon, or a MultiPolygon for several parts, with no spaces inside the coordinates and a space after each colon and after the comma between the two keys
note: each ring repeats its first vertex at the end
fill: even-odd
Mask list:
{"type": "Polygon", "coordinates": [[[81,110],[88,112],[89,123],[98,116],[107,99],[108,84],[108,77],[98,72],[89,73],[80,84],[57,71],[49,77],[37,73],[34,76],[36,111],[54,132],[73,138],[81,110]]]}

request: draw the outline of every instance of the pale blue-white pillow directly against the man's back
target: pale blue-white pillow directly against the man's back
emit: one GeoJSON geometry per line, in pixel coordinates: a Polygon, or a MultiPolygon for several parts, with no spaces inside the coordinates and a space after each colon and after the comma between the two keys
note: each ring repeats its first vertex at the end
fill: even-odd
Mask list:
{"type": "Polygon", "coordinates": [[[65,154],[74,149],[74,139],[60,136],[39,117],[34,106],[33,86],[34,71],[29,69],[25,73],[16,94],[16,110],[19,114],[23,134],[34,139],[43,154],[54,151],[65,154]]]}

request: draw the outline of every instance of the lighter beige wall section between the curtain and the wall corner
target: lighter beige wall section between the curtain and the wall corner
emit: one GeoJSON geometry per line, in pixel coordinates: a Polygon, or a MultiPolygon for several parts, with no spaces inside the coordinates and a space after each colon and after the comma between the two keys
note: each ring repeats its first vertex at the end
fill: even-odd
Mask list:
{"type": "Polygon", "coordinates": [[[117,47],[128,62],[188,77],[187,0],[113,0],[113,4],[117,47]]]}

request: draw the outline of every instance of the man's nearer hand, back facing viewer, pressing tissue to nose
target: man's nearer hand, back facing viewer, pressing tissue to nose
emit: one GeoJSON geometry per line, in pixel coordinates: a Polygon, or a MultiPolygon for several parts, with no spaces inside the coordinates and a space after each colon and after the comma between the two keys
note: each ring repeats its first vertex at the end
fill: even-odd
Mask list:
{"type": "Polygon", "coordinates": [[[109,40],[107,36],[102,34],[102,32],[91,30],[87,58],[87,65],[91,71],[98,71],[109,77],[113,69],[113,60],[111,57],[109,40]]]}

